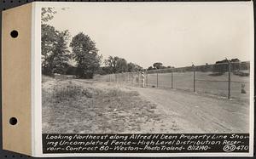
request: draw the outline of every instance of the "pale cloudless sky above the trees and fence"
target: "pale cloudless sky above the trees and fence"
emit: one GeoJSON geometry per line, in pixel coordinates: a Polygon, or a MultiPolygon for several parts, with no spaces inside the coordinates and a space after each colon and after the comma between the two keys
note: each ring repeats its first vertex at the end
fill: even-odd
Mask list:
{"type": "Polygon", "coordinates": [[[252,53],[250,2],[51,6],[57,13],[49,25],[70,31],[72,37],[81,31],[89,35],[103,59],[112,55],[144,68],[154,62],[180,67],[213,64],[225,58],[248,61],[252,53]]]}

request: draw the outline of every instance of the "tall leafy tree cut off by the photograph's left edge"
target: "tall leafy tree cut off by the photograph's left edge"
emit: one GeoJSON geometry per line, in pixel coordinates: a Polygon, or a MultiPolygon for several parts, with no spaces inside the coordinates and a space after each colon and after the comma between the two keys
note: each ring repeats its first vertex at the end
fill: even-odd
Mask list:
{"type": "Polygon", "coordinates": [[[70,52],[67,43],[70,38],[68,31],[56,31],[47,22],[54,18],[54,8],[41,10],[41,59],[42,73],[52,76],[54,73],[66,74],[69,67],[70,52]]]}

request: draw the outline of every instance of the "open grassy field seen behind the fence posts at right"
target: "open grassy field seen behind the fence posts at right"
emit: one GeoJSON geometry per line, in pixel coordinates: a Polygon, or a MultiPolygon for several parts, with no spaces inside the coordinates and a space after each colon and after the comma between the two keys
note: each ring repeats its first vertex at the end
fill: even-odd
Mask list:
{"type": "MultiPolygon", "coordinates": [[[[196,72],[195,91],[198,93],[214,94],[227,97],[228,73],[222,76],[208,76],[206,72],[196,72]],[[202,81],[201,81],[202,80],[202,81]],[[214,82],[215,81],[215,82],[214,82]],[[226,81],[226,82],[224,82],[226,81]]],[[[193,72],[173,73],[173,88],[193,91],[193,72]]],[[[159,87],[171,88],[171,73],[159,74],[159,87]]],[[[156,74],[148,75],[148,85],[156,85],[156,74]]],[[[232,98],[249,99],[249,77],[239,77],[231,74],[230,94],[232,98]],[[241,83],[245,84],[247,94],[241,94],[241,83]]]]}

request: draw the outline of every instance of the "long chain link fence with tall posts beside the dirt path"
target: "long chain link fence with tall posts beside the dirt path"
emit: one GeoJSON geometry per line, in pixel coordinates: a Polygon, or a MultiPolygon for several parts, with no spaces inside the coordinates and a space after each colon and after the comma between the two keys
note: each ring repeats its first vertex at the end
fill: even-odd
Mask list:
{"type": "Polygon", "coordinates": [[[104,75],[102,80],[132,87],[143,87],[144,83],[144,87],[147,88],[173,88],[201,94],[213,94],[228,99],[249,99],[249,75],[249,62],[229,62],[123,72],[104,75]]]}

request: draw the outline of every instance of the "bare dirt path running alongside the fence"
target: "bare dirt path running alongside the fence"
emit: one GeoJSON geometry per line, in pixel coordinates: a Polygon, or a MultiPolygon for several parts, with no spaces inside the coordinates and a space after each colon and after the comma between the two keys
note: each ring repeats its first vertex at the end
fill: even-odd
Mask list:
{"type": "MultiPolygon", "coordinates": [[[[249,105],[229,99],[217,99],[201,94],[159,88],[131,88],[159,105],[159,109],[177,113],[190,123],[190,133],[247,133],[249,105]],[[194,132],[195,131],[195,132],[194,132]]],[[[187,124],[187,126],[189,126],[187,124]]],[[[187,128],[185,128],[187,129],[187,128]]]]}

